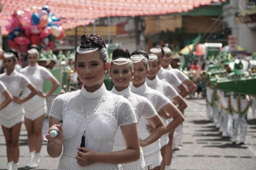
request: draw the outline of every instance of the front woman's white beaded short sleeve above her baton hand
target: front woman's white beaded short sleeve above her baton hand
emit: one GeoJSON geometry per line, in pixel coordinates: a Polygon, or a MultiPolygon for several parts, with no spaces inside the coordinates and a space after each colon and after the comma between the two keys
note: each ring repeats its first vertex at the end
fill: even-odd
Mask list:
{"type": "Polygon", "coordinates": [[[65,94],[61,94],[54,99],[51,110],[49,112],[49,116],[56,118],[58,120],[62,120],[64,97],[65,97],[65,94]]]}

